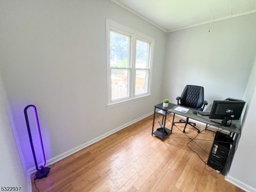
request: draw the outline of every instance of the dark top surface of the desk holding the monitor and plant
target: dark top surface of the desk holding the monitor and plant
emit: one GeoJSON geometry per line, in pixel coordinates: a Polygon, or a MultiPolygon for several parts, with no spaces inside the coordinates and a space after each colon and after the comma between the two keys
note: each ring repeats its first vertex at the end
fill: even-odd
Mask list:
{"type": "MultiPolygon", "coordinates": [[[[158,104],[156,106],[159,106],[159,105],[161,105],[161,104],[158,104]]],[[[203,122],[203,123],[206,123],[208,125],[216,126],[220,129],[224,129],[224,130],[228,130],[230,132],[241,134],[241,121],[240,120],[233,120],[231,126],[222,126],[221,124],[217,124],[215,122],[212,122],[209,119],[209,116],[203,116],[203,115],[200,115],[199,113],[198,114],[193,114],[193,111],[194,111],[193,109],[188,108],[189,109],[188,112],[184,113],[184,112],[180,112],[178,110],[175,110],[176,107],[178,107],[178,105],[169,103],[168,111],[170,111],[172,113],[175,113],[175,114],[179,114],[179,115],[188,117],[188,118],[191,118],[191,119],[194,119],[194,120],[197,120],[197,121],[200,121],[200,122],[203,122]]],[[[179,106],[179,107],[186,108],[184,106],[179,106]]],[[[210,106],[208,108],[210,108],[210,106]]],[[[165,108],[162,106],[161,109],[164,110],[165,108]]],[[[210,109],[208,109],[208,110],[210,110],[210,109]]]]}

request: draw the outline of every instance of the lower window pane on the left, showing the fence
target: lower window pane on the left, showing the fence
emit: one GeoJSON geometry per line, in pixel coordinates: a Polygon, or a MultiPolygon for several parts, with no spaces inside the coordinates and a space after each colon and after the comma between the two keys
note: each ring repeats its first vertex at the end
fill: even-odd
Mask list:
{"type": "Polygon", "coordinates": [[[111,70],[111,100],[125,98],[129,96],[129,70],[112,69],[111,70]]]}

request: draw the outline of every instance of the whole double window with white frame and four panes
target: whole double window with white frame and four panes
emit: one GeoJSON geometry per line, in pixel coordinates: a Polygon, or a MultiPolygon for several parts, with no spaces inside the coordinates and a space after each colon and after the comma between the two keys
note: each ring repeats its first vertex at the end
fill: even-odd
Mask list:
{"type": "Polygon", "coordinates": [[[150,95],[154,39],[107,20],[108,106],[150,95]]]}

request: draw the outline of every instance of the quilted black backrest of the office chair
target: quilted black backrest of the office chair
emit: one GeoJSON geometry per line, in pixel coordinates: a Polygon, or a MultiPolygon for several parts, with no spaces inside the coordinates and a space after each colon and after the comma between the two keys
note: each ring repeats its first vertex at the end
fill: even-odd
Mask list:
{"type": "Polygon", "coordinates": [[[204,87],[187,85],[181,96],[180,105],[200,109],[204,101],[204,87]]]}

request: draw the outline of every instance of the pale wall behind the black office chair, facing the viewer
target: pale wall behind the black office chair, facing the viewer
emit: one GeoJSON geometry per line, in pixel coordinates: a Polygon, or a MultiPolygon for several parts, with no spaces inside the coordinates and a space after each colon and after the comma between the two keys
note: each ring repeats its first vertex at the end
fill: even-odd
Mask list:
{"type": "Polygon", "coordinates": [[[256,54],[256,13],[168,34],[164,95],[176,102],[187,84],[204,87],[208,103],[242,99],[256,54]]]}

